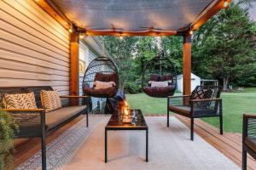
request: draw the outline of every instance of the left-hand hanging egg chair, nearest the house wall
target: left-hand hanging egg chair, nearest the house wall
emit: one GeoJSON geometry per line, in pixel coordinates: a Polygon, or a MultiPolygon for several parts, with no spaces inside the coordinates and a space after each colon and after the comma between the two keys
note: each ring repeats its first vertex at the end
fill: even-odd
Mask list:
{"type": "Polygon", "coordinates": [[[113,60],[103,56],[93,59],[84,73],[84,94],[96,98],[112,98],[118,88],[118,68],[113,60]]]}

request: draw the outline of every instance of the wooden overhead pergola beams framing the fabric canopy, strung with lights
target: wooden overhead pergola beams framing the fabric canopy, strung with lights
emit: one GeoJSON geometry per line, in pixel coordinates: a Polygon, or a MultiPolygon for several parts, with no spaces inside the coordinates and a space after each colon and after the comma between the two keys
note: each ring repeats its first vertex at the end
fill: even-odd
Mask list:
{"type": "MultiPolygon", "coordinates": [[[[56,7],[52,0],[35,0],[41,8],[50,14],[55,20],[57,20],[61,26],[69,29],[71,21],[67,19],[65,14],[61,12],[59,8],[56,7]]],[[[231,0],[214,0],[211,4],[205,8],[201,14],[198,15],[196,20],[183,29],[178,29],[177,31],[158,31],[158,30],[146,30],[146,31],[120,31],[116,29],[109,30],[86,30],[86,34],[89,36],[180,36],[184,32],[189,30],[198,30],[202,25],[204,25],[207,20],[212,18],[214,14],[217,14],[219,10],[224,8],[224,2],[231,3],[231,0]]],[[[85,29],[84,29],[85,30],[85,29]]]]}

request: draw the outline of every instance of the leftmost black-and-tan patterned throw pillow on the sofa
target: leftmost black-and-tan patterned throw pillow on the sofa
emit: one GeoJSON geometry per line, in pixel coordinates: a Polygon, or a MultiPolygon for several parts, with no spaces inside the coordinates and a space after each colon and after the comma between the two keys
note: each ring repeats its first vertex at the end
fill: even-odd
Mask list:
{"type": "Polygon", "coordinates": [[[4,109],[38,109],[33,92],[28,94],[4,94],[4,109]]]}

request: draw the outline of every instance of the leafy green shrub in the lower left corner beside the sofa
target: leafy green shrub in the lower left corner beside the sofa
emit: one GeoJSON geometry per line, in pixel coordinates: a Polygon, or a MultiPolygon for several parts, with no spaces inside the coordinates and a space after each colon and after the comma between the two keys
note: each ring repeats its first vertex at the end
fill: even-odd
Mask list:
{"type": "Polygon", "coordinates": [[[0,170],[13,169],[13,140],[18,126],[9,114],[0,111],[0,170]]]}

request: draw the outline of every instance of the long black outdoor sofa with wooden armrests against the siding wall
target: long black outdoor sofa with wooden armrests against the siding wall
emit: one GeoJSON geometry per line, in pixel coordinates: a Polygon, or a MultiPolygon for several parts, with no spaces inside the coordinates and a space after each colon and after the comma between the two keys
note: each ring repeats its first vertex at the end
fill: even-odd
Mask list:
{"type": "MultiPolygon", "coordinates": [[[[58,128],[72,121],[74,118],[86,114],[86,126],[88,127],[88,111],[86,105],[69,106],[67,100],[61,101],[61,109],[45,113],[41,105],[40,91],[53,90],[49,86],[42,87],[0,87],[0,104],[2,104],[4,94],[27,94],[33,92],[37,107],[40,109],[3,109],[15,117],[19,125],[19,133],[16,134],[17,139],[41,138],[42,146],[42,169],[46,170],[46,144],[45,138],[48,134],[55,132],[58,128]]],[[[67,99],[86,98],[86,96],[61,96],[67,99]]],[[[82,102],[85,103],[85,102],[82,102]]]]}

